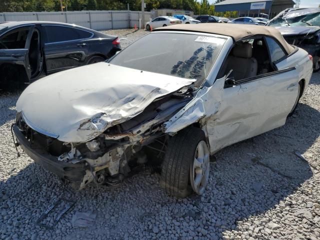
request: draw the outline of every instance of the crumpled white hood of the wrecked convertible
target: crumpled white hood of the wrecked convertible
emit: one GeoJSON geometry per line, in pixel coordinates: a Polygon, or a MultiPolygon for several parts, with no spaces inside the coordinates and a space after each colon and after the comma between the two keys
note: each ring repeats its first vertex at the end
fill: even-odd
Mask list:
{"type": "Polygon", "coordinates": [[[16,109],[43,134],[85,142],[193,81],[100,62],[35,81],[22,92],[16,109]]]}

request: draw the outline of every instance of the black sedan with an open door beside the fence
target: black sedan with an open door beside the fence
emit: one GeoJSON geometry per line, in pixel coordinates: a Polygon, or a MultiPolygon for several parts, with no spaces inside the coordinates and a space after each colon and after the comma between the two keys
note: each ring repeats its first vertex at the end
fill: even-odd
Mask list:
{"type": "Polygon", "coordinates": [[[104,61],[120,50],[117,36],[49,21],[0,23],[0,89],[104,61]]]}

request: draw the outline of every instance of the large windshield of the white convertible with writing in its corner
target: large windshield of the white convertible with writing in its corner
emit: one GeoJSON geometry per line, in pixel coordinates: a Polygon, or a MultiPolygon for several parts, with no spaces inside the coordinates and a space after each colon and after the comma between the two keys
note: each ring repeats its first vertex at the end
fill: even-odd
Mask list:
{"type": "Polygon", "coordinates": [[[124,48],[110,63],[134,69],[197,79],[209,73],[226,38],[154,32],[124,48]]]}

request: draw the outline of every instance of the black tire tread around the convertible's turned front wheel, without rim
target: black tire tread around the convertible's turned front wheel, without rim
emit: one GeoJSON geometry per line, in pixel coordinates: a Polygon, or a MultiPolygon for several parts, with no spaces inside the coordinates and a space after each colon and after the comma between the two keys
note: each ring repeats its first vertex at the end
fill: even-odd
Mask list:
{"type": "Polygon", "coordinates": [[[160,178],[160,186],[167,194],[180,198],[192,193],[190,165],[201,140],[205,141],[205,134],[201,129],[187,127],[168,141],[160,178]]]}

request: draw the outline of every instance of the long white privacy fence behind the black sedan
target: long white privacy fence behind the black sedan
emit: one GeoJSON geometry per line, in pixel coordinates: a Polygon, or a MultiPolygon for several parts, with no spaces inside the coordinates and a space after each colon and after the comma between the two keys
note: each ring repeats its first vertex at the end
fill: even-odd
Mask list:
{"type": "MultiPolygon", "coordinates": [[[[151,12],[144,12],[145,23],[151,12]]],[[[140,11],[41,11],[41,12],[0,12],[2,21],[58,21],[74,23],[94,30],[139,27],[140,11]]]]}

